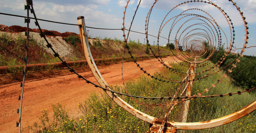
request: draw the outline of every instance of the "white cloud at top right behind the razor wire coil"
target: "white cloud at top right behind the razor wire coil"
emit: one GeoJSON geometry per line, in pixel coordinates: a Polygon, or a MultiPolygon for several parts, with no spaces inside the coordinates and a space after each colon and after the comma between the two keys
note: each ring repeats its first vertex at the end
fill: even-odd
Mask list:
{"type": "MultiPolygon", "coordinates": [[[[140,0],[138,0],[139,3],[140,0]]],[[[155,0],[142,0],[140,3],[140,7],[142,8],[150,8],[155,0]]],[[[179,1],[179,0],[161,0],[157,1],[156,4],[154,5],[154,8],[160,9],[160,10],[166,10],[170,11],[173,7],[176,5],[181,4],[181,2],[184,1],[179,1]]],[[[240,13],[237,11],[235,6],[233,6],[233,3],[230,1],[223,1],[223,0],[215,0],[212,1],[218,7],[223,9],[228,16],[230,16],[232,23],[234,26],[240,26],[243,25],[242,18],[240,16],[240,13]]],[[[249,23],[256,23],[256,0],[234,0],[234,2],[237,3],[238,7],[240,7],[240,10],[244,13],[244,16],[246,17],[247,22],[249,23]]],[[[138,4],[137,3],[137,4],[138,4]]],[[[190,8],[199,8],[202,10],[205,10],[208,12],[217,22],[219,22],[219,25],[227,27],[228,24],[226,20],[224,20],[224,16],[221,14],[219,10],[216,10],[217,8],[214,7],[213,5],[207,4],[207,3],[201,3],[201,2],[189,2],[186,4],[182,4],[177,7],[177,9],[183,11],[187,10],[190,8]],[[224,22],[224,23],[222,23],[224,22]]],[[[167,12],[166,12],[167,13],[167,12]]],[[[205,14],[207,16],[207,14],[205,14]]]]}

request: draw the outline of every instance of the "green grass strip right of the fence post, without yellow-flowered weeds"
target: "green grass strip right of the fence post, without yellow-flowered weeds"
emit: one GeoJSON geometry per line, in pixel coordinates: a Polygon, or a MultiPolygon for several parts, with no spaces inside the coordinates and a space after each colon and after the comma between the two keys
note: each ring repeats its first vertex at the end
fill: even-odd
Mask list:
{"type": "MultiPolygon", "coordinates": [[[[197,71],[205,70],[212,66],[213,64],[209,64],[207,67],[197,68],[197,71]]],[[[223,71],[215,74],[215,76],[209,76],[207,78],[203,78],[199,81],[195,81],[193,83],[193,89],[191,94],[197,94],[205,91],[212,85],[212,81],[217,81],[224,74],[223,71]]],[[[205,74],[204,74],[205,75],[205,74]]],[[[204,76],[202,74],[199,77],[204,76]]],[[[197,77],[196,77],[197,78],[197,77]]],[[[235,93],[237,91],[242,91],[241,88],[235,87],[230,82],[231,78],[224,78],[220,83],[216,85],[216,87],[210,89],[208,92],[202,94],[204,95],[220,95],[220,94],[228,94],[235,93]]],[[[233,96],[223,96],[223,97],[214,97],[214,98],[195,98],[190,101],[189,104],[189,113],[187,117],[187,122],[201,122],[201,121],[209,121],[212,119],[217,119],[235,111],[238,111],[256,99],[254,94],[242,93],[242,95],[233,95],[233,96]]],[[[232,123],[228,123],[226,125],[218,126],[215,128],[203,129],[203,130],[191,130],[184,132],[254,132],[256,130],[255,125],[256,112],[252,112],[249,115],[238,119],[232,123]]]]}

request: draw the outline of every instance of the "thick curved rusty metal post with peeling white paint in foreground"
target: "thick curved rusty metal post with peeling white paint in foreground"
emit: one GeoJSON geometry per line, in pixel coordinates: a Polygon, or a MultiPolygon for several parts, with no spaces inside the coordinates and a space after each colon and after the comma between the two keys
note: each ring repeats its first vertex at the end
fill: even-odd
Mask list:
{"type": "MultiPolygon", "coordinates": [[[[78,21],[78,24],[81,25],[81,26],[79,26],[79,31],[80,31],[81,42],[82,42],[82,45],[83,45],[86,61],[89,65],[89,67],[91,68],[92,73],[94,74],[96,80],[100,84],[100,86],[111,90],[109,85],[106,83],[106,81],[104,80],[104,78],[100,74],[100,72],[99,72],[99,70],[98,70],[97,66],[95,65],[95,62],[92,58],[92,54],[90,52],[88,39],[87,39],[87,35],[86,35],[84,17],[83,16],[78,17],[77,21],[78,21]]],[[[190,72],[190,73],[193,74],[193,72],[190,72]]],[[[194,77],[194,75],[193,75],[193,77],[194,77]]],[[[112,93],[112,92],[106,91],[106,90],[105,90],[105,92],[121,108],[123,108],[127,112],[131,113],[132,115],[134,115],[135,117],[137,117],[137,118],[139,118],[143,121],[146,121],[148,123],[156,125],[156,128],[159,128],[159,126],[163,122],[163,120],[161,120],[161,119],[152,117],[150,115],[147,115],[147,114],[135,109],[134,107],[129,105],[127,102],[125,102],[123,99],[121,99],[119,96],[117,96],[115,93],[112,93]]],[[[212,127],[224,125],[224,124],[230,123],[232,121],[235,121],[235,120],[251,113],[255,109],[256,109],[256,100],[253,103],[246,106],[245,108],[241,109],[240,111],[237,111],[237,112],[232,113],[230,115],[227,115],[225,117],[221,117],[221,118],[214,119],[214,120],[211,120],[211,121],[203,121],[203,122],[195,122],[195,123],[179,123],[179,122],[166,121],[165,125],[166,125],[168,130],[171,130],[170,132],[175,132],[176,129],[179,129],[179,130],[197,130],[197,129],[212,128],[212,127]]],[[[163,132],[166,132],[166,131],[163,131],[163,132]]]]}

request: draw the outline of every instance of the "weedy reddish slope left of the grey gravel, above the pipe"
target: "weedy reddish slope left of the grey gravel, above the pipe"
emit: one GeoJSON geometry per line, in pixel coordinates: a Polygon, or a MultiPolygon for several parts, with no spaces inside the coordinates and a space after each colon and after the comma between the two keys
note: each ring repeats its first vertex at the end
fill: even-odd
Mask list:
{"type": "MultiPolygon", "coordinates": [[[[6,73],[16,76],[17,73],[20,73],[24,69],[24,57],[26,54],[24,46],[26,39],[21,34],[16,38],[12,38],[12,33],[1,32],[0,43],[0,66],[8,66],[6,73]],[[15,65],[19,67],[14,67],[15,65]]],[[[30,36],[28,64],[53,63],[57,61],[57,58],[45,52],[43,48],[38,46],[34,38],[30,36]]],[[[33,68],[31,70],[33,70],[33,68]]]]}

